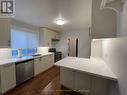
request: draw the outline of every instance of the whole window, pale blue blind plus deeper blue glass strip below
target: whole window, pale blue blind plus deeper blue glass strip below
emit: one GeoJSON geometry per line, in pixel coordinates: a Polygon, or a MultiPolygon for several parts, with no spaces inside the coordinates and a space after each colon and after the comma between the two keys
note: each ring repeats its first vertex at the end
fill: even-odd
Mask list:
{"type": "Polygon", "coordinates": [[[18,56],[18,49],[22,48],[22,56],[31,55],[37,52],[38,33],[18,29],[11,29],[12,56],[18,56]]]}

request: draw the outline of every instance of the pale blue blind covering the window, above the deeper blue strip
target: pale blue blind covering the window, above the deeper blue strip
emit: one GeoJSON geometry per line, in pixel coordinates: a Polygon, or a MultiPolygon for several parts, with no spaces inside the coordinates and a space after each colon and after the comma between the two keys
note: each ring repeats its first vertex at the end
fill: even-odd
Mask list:
{"type": "Polygon", "coordinates": [[[12,49],[27,49],[38,46],[38,34],[36,32],[27,32],[17,29],[11,29],[11,47],[12,49]]]}

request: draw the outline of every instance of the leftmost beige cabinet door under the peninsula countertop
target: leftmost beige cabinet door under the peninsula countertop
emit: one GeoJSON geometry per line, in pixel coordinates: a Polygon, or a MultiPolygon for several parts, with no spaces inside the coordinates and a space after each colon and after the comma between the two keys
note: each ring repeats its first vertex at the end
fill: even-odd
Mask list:
{"type": "Polygon", "coordinates": [[[60,83],[74,90],[75,72],[70,69],[60,68],[60,83]]]}

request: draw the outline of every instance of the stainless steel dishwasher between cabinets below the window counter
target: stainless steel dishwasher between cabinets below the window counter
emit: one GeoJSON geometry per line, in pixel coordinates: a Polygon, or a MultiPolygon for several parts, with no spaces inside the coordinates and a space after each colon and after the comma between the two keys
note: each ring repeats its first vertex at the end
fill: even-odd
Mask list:
{"type": "Polygon", "coordinates": [[[27,60],[16,63],[16,85],[34,77],[34,61],[27,60]]]}

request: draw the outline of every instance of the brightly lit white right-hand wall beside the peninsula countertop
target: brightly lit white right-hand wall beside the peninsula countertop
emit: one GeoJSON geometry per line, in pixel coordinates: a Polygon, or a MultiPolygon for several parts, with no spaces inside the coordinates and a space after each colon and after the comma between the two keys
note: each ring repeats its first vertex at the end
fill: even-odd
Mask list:
{"type": "Polygon", "coordinates": [[[118,77],[120,95],[127,95],[127,38],[102,43],[103,59],[118,77]]]}

